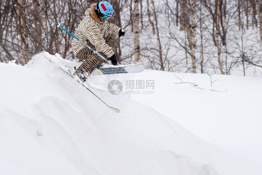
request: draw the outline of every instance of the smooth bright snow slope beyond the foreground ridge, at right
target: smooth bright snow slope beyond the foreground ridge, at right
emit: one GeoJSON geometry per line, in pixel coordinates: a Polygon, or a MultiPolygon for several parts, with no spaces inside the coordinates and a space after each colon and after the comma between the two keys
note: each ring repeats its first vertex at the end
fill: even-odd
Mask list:
{"type": "Polygon", "coordinates": [[[155,93],[134,95],[135,100],[145,100],[204,140],[262,163],[262,78],[149,70],[143,79],[156,80],[155,93]],[[179,78],[198,86],[176,84],[179,78]]]}

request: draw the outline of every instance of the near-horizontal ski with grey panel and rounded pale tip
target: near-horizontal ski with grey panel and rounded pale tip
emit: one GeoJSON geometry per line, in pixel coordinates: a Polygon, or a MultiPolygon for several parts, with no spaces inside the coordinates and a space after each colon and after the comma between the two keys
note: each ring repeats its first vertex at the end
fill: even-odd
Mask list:
{"type": "Polygon", "coordinates": [[[136,64],[130,66],[115,66],[107,68],[95,69],[91,75],[106,75],[106,74],[123,74],[123,73],[138,73],[145,70],[143,64],[136,64]]]}

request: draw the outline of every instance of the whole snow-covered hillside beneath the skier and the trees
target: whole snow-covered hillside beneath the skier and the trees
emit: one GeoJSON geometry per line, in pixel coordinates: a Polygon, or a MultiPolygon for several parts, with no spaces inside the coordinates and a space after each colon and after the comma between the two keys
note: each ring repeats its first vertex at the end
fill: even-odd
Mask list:
{"type": "Polygon", "coordinates": [[[0,174],[261,174],[261,78],[90,77],[115,113],[43,54],[79,65],[48,53],[0,63],[0,174]],[[118,95],[112,80],[122,82],[118,95]]]}

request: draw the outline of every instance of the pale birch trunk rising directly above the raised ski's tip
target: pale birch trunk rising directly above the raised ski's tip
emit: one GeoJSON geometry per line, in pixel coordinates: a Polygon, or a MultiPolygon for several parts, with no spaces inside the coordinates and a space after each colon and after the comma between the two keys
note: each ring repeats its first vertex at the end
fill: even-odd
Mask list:
{"type": "Polygon", "coordinates": [[[135,61],[140,60],[140,40],[139,40],[139,0],[134,1],[134,45],[135,45],[135,61]]]}

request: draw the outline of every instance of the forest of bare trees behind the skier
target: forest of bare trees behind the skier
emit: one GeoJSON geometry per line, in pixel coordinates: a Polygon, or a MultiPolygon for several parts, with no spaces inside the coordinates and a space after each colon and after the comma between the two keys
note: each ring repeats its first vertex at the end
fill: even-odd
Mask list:
{"type": "MultiPolygon", "coordinates": [[[[73,56],[73,37],[90,0],[1,0],[0,62],[27,62],[37,53],[73,56]]],[[[261,0],[108,0],[120,63],[149,69],[262,75],[261,0]]],[[[262,76],[261,76],[262,77],[262,76]]]]}

